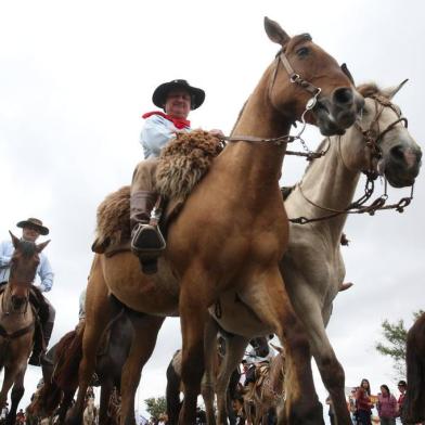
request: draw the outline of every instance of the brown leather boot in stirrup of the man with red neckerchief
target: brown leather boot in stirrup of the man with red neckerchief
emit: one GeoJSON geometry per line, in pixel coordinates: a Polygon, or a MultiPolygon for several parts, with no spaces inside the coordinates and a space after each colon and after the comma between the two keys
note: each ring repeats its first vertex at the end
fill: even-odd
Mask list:
{"type": "Polygon", "coordinates": [[[130,197],[131,250],[139,257],[142,271],[156,273],[157,259],[166,242],[157,226],[158,217],[151,215],[158,195],[155,192],[138,191],[130,197]]]}

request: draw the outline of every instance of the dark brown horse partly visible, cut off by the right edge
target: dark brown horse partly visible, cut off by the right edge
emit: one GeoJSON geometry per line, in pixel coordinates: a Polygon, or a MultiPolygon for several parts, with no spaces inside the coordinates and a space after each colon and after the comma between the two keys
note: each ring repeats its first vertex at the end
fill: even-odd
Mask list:
{"type": "Polygon", "coordinates": [[[408,332],[405,351],[408,391],[404,418],[409,424],[425,421],[425,312],[408,332]]]}

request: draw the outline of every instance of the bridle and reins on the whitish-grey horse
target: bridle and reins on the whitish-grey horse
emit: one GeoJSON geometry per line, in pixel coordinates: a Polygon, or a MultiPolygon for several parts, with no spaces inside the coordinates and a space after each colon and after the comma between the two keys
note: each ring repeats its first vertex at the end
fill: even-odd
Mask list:
{"type": "MultiPolygon", "coordinates": [[[[388,193],[387,193],[387,179],[384,177],[384,193],[378,196],[375,201],[373,201],[370,205],[364,205],[372,196],[374,189],[375,189],[375,180],[378,177],[378,173],[376,170],[373,169],[373,160],[381,159],[382,158],[382,149],[379,146],[379,141],[384,138],[386,133],[388,133],[390,130],[392,130],[398,124],[402,123],[405,128],[408,128],[408,118],[403,117],[401,115],[400,110],[398,110],[390,100],[379,95],[379,94],[374,94],[370,96],[375,101],[375,117],[373,118],[371,125],[369,126],[368,129],[363,129],[359,123],[356,123],[355,126],[356,128],[363,134],[363,140],[365,142],[366,147],[369,149],[369,168],[366,170],[363,170],[362,172],[366,176],[366,182],[364,185],[364,194],[357,201],[352,202],[347,208],[345,209],[334,209],[334,208],[329,208],[329,207],[323,207],[321,205],[318,205],[313,201],[309,199],[305,193],[302,192],[301,184],[298,184],[299,192],[301,193],[302,197],[310,204],[313,205],[314,207],[322,209],[324,211],[330,212],[329,215],[322,216],[322,217],[317,217],[317,218],[306,218],[306,217],[297,217],[289,219],[291,222],[297,223],[297,224],[307,224],[310,222],[314,221],[323,221],[327,220],[337,216],[342,215],[348,215],[348,214],[364,214],[368,212],[370,216],[373,216],[377,210],[383,210],[383,209],[395,209],[398,212],[403,212],[404,208],[410,205],[410,203],[413,199],[413,189],[414,184],[411,186],[411,193],[410,196],[402,197],[398,203],[396,204],[389,204],[385,205],[386,201],[388,199],[388,193]],[[379,117],[383,113],[383,111],[389,107],[391,108],[396,115],[397,119],[389,124],[384,130],[379,130],[379,117]]],[[[338,137],[338,154],[339,157],[344,163],[344,157],[342,155],[342,150],[340,150],[340,136],[338,137]]]]}

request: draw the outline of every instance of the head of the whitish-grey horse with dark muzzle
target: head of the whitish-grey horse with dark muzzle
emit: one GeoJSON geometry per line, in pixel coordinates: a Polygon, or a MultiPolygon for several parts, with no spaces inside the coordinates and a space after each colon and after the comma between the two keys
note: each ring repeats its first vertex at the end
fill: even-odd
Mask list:
{"type": "Polygon", "coordinates": [[[340,146],[348,168],[385,176],[394,188],[412,185],[422,159],[421,147],[408,130],[408,120],[392,103],[403,83],[389,89],[379,89],[374,83],[360,86],[359,92],[365,99],[363,113],[347,132],[350,142],[340,146]]]}

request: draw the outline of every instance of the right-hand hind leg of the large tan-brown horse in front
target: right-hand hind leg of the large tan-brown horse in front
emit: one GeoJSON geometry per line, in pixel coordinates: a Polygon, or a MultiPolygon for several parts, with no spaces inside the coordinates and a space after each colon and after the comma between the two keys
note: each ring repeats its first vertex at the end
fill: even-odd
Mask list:
{"type": "Polygon", "coordinates": [[[144,364],[151,358],[156,338],[165,318],[150,314],[128,313],[134,327],[128,359],[121,375],[121,420],[123,425],[133,425],[134,394],[138,389],[144,364]]]}

